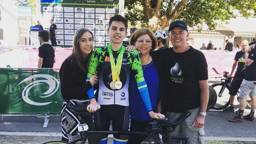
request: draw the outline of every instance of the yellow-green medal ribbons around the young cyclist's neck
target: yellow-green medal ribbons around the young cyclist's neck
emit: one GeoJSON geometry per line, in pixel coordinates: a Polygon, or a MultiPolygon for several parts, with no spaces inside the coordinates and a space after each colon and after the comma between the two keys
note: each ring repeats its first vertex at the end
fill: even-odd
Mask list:
{"type": "Polygon", "coordinates": [[[121,46],[120,53],[117,57],[117,64],[115,64],[114,56],[113,56],[112,50],[111,50],[112,47],[110,46],[110,44],[108,44],[107,48],[108,48],[108,52],[109,52],[109,59],[110,59],[110,65],[111,65],[112,81],[120,81],[119,74],[121,71],[122,57],[124,55],[125,47],[121,46]]]}

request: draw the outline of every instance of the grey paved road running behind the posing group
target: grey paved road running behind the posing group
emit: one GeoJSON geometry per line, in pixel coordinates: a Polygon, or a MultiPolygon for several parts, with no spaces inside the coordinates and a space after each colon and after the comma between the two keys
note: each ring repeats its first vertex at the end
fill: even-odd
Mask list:
{"type": "MultiPolygon", "coordinates": [[[[249,111],[249,109],[246,109],[245,113],[247,114],[249,111]]],[[[245,120],[243,123],[228,122],[228,119],[235,115],[235,113],[224,113],[222,111],[208,111],[204,128],[206,138],[223,138],[224,140],[250,139],[250,141],[256,141],[255,122],[248,120],[245,120]]],[[[49,124],[46,128],[43,128],[44,118],[37,118],[35,116],[1,116],[0,120],[1,118],[0,143],[6,141],[4,138],[16,139],[15,137],[17,136],[15,135],[51,136],[53,140],[58,140],[61,137],[60,116],[50,116],[48,118],[49,124]]],[[[44,137],[41,139],[45,140],[44,137]]],[[[29,139],[30,137],[26,138],[29,139]]]]}

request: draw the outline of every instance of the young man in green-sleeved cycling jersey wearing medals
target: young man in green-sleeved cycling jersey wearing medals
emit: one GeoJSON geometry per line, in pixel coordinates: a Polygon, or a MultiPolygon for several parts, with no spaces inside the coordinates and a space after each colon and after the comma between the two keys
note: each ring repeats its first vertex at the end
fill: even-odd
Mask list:
{"type": "MultiPolygon", "coordinates": [[[[98,107],[95,103],[89,109],[89,111],[95,112],[94,123],[96,130],[109,130],[110,120],[112,120],[114,131],[129,130],[128,86],[131,73],[136,79],[141,98],[150,117],[164,117],[164,115],[152,111],[138,51],[127,52],[125,47],[122,46],[122,41],[127,35],[127,27],[127,20],[121,15],[111,17],[107,30],[110,44],[105,48],[95,49],[90,59],[87,79],[89,80],[96,70],[99,77],[99,90],[96,95],[100,109],[95,112],[95,107],[98,107]]],[[[91,101],[95,99],[93,88],[87,94],[91,101]]],[[[126,144],[127,141],[127,135],[114,135],[114,144],[126,144]]],[[[99,144],[107,144],[107,142],[107,135],[104,135],[99,144]]]]}

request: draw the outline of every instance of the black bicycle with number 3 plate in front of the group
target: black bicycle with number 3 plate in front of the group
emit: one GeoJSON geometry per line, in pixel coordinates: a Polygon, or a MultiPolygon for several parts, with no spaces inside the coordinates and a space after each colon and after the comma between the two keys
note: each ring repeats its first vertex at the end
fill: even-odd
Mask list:
{"type": "MultiPolygon", "coordinates": [[[[79,106],[79,105],[71,105],[72,109],[77,111],[80,114],[88,113],[86,107],[79,106]]],[[[151,129],[145,132],[131,132],[131,131],[88,131],[87,124],[80,124],[78,126],[78,131],[86,131],[87,134],[121,134],[121,135],[147,135],[150,136],[149,143],[152,144],[180,144],[176,142],[167,142],[162,143],[161,138],[159,137],[159,134],[161,134],[163,137],[176,139],[176,140],[184,140],[185,143],[187,143],[188,137],[187,136],[169,136],[163,131],[163,127],[173,127],[173,130],[181,124],[187,117],[189,117],[191,112],[185,111],[184,113],[180,114],[178,118],[175,120],[167,120],[167,118],[160,118],[157,121],[149,122],[149,124],[152,126],[151,129]]],[[[170,131],[170,132],[172,132],[170,131]]],[[[59,141],[58,141],[59,142],[59,141]]],[[[45,142],[43,144],[54,144],[45,142]]],[[[59,144],[59,143],[56,143],[59,144]]],[[[60,143],[61,144],[61,143],[60,143]]],[[[68,142],[63,142],[63,144],[70,144],[68,142]]]]}

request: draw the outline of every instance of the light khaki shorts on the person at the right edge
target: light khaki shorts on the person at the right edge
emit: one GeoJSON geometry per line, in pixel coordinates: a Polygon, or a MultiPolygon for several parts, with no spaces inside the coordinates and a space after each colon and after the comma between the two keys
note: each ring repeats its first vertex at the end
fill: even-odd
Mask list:
{"type": "Polygon", "coordinates": [[[239,98],[246,98],[249,96],[256,96],[256,81],[247,81],[243,79],[240,86],[239,98]]]}

